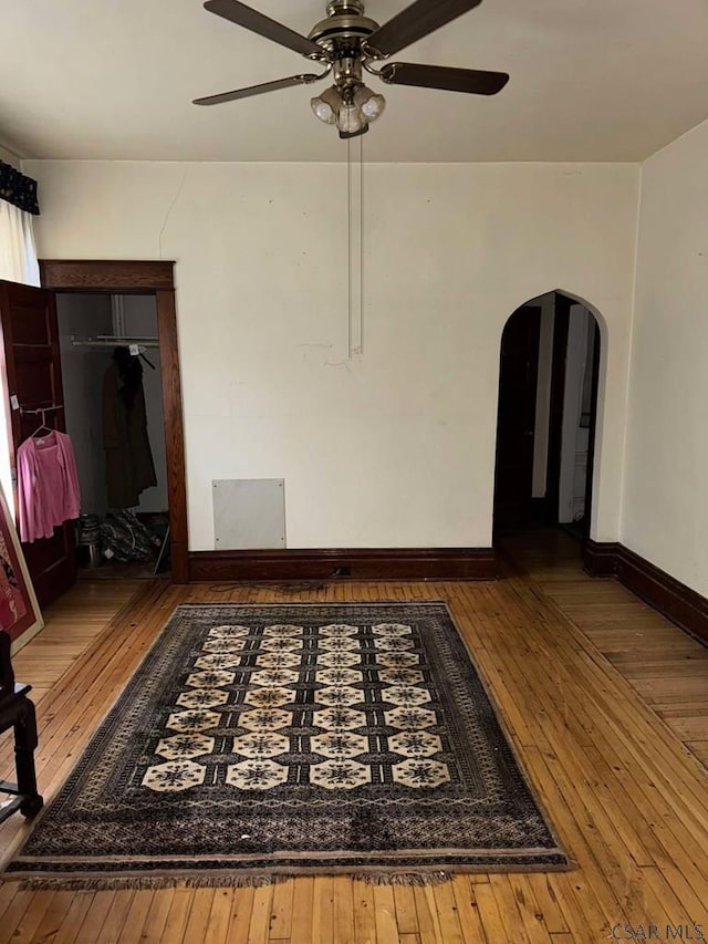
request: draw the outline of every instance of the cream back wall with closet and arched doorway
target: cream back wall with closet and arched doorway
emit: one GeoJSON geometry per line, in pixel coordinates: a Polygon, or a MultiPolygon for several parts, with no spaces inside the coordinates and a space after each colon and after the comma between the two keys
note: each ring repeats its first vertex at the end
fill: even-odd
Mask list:
{"type": "Polygon", "coordinates": [[[40,256],[177,261],[192,550],[212,479],[278,477],[289,547],[489,546],[501,331],[555,289],[603,318],[593,537],[617,538],[636,166],[367,166],[355,361],[344,166],[24,167],[40,256]]]}

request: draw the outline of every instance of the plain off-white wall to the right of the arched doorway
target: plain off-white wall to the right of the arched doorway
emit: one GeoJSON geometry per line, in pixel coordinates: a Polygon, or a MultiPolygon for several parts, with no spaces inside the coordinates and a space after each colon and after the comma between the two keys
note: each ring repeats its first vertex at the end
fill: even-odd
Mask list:
{"type": "Polygon", "coordinates": [[[708,123],[642,175],[621,537],[708,593],[708,123]]]}

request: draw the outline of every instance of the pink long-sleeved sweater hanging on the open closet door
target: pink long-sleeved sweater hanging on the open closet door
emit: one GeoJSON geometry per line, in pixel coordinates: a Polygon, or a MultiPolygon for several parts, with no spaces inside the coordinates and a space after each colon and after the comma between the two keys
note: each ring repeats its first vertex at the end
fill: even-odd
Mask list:
{"type": "Polygon", "coordinates": [[[71,439],[52,430],[18,449],[20,538],[51,538],[56,525],[79,518],[81,496],[71,439]]]}

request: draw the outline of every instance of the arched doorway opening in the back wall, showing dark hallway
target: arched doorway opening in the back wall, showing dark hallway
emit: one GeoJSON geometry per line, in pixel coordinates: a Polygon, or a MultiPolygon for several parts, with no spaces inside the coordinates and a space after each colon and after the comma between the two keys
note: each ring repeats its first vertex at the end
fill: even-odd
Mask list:
{"type": "Polygon", "coordinates": [[[582,302],[549,292],[501,338],[496,532],[561,525],[590,533],[601,334],[582,302]]]}

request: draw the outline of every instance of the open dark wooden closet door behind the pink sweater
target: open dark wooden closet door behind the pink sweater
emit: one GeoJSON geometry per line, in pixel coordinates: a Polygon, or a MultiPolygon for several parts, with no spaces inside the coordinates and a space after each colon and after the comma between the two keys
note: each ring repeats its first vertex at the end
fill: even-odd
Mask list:
{"type": "MultiPolygon", "coordinates": [[[[6,378],[8,447],[17,508],[17,449],[41,424],[65,432],[64,397],[54,293],[0,281],[0,370],[6,378]]],[[[10,497],[8,496],[8,500],[10,497]]],[[[27,566],[40,606],[55,600],[76,580],[74,530],[71,522],[51,538],[23,543],[27,566]]]]}

